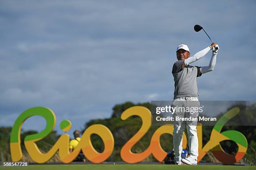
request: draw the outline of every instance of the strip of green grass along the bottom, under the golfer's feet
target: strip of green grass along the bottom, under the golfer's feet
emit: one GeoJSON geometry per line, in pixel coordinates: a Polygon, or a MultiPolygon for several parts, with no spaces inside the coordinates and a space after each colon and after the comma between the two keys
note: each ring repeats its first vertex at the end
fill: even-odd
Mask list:
{"type": "Polygon", "coordinates": [[[3,167],[0,170],[255,170],[255,166],[233,166],[233,165],[28,165],[28,167],[3,167]]]}

